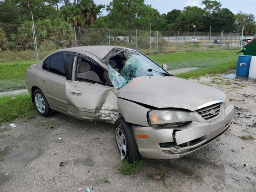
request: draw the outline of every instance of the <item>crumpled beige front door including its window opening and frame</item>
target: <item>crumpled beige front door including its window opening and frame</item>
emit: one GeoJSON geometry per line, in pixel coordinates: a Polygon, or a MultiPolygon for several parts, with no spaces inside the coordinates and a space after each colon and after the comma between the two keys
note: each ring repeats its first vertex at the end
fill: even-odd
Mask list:
{"type": "Polygon", "coordinates": [[[116,89],[104,79],[106,70],[95,60],[76,56],[73,73],[66,80],[68,113],[90,120],[114,121],[118,118],[116,89]]]}

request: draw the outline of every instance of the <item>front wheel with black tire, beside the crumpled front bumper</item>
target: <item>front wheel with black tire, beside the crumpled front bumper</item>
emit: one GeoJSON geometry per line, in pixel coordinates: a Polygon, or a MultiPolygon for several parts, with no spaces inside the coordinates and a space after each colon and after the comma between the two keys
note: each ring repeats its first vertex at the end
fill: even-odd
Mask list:
{"type": "Polygon", "coordinates": [[[114,134],[116,138],[116,145],[120,152],[121,160],[127,159],[128,162],[131,163],[136,160],[142,159],[140,152],[138,150],[138,146],[133,136],[131,124],[127,123],[123,118],[118,118],[115,121],[114,134]],[[124,135],[124,138],[122,135],[124,135]],[[120,148],[123,148],[120,144],[121,142],[122,144],[125,143],[124,145],[126,146],[126,152],[124,150],[122,150],[121,152],[120,148]]]}

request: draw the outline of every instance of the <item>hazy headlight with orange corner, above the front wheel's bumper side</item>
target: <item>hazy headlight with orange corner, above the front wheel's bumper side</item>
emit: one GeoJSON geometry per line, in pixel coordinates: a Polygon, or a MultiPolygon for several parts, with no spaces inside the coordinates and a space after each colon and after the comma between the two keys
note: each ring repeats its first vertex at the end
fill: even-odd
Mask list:
{"type": "Polygon", "coordinates": [[[182,110],[152,110],[148,112],[152,125],[182,124],[192,121],[192,117],[182,110]]]}

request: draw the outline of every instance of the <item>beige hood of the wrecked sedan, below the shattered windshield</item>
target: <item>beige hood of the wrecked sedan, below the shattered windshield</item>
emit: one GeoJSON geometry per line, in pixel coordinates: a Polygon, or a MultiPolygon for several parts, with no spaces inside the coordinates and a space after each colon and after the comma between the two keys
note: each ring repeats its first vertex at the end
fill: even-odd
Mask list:
{"type": "Polygon", "coordinates": [[[218,89],[173,76],[134,78],[118,90],[116,96],[156,108],[190,111],[210,101],[225,100],[225,93],[218,89]]]}

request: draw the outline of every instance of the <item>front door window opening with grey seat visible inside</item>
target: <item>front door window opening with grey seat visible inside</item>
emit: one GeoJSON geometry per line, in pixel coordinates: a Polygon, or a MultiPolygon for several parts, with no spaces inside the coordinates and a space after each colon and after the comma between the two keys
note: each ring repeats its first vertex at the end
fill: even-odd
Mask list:
{"type": "Polygon", "coordinates": [[[104,70],[94,62],[80,57],[78,58],[77,78],[78,80],[104,82],[104,70]]]}

